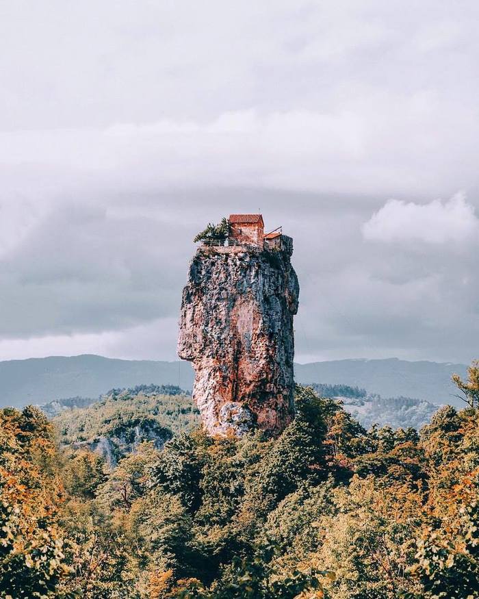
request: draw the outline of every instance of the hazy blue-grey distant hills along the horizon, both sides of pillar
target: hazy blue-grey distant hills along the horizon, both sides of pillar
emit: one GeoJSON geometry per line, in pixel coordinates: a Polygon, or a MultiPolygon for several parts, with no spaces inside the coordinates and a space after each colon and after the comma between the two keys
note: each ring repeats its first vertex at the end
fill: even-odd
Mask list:
{"type": "MultiPolygon", "coordinates": [[[[408,396],[461,405],[451,374],[464,364],[383,360],[335,360],[296,364],[298,383],[350,385],[383,397],[408,396]]],[[[178,385],[191,390],[193,371],[184,361],[119,360],[96,355],[0,362],[0,407],[43,404],[60,398],[98,398],[114,387],[178,385]]]]}

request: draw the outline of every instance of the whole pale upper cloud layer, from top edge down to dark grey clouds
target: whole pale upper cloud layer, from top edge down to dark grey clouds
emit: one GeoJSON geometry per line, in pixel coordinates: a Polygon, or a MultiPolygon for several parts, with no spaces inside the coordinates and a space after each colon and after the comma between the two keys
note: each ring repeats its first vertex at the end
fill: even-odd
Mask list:
{"type": "Polygon", "coordinates": [[[7,4],[2,194],[477,185],[473,1],[7,4]]]}

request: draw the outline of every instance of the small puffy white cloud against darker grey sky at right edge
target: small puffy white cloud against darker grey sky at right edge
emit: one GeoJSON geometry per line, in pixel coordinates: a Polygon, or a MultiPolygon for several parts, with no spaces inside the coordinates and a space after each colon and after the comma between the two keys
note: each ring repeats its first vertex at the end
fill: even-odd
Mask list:
{"type": "Polygon", "coordinates": [[[369,241],[461,243],[477,239],[479,219],[465,194],[458,192],[448,201],[428,204],[388,200],[364,223],[362,230],[369,241]]]}

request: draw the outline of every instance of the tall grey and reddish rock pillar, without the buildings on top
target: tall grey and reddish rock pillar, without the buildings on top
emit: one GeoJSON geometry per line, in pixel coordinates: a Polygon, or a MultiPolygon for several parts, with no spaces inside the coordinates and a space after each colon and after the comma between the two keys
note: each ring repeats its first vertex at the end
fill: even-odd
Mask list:
{"type": "Polygon", "coordinates": [[[193,364],[193,398],[211,435],[256,426],[276,435],[294,418],[292,251],[283,235],[281,250],[200,246],[192,259],[178,353],[193,364]]]}

